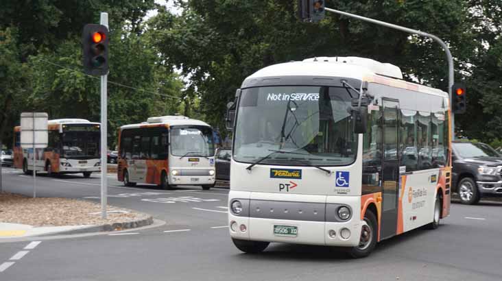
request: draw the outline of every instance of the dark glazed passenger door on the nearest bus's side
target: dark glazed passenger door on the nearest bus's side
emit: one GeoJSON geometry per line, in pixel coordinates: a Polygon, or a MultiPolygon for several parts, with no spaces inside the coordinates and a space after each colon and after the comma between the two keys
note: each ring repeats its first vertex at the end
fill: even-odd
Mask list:
{"type": "Polygon", "coordinates": [[[380,239],[394,236],[397,230],[399,147],[399,102],[383,99],[383,161],[382,161],[382,208],[380,239]]]}

